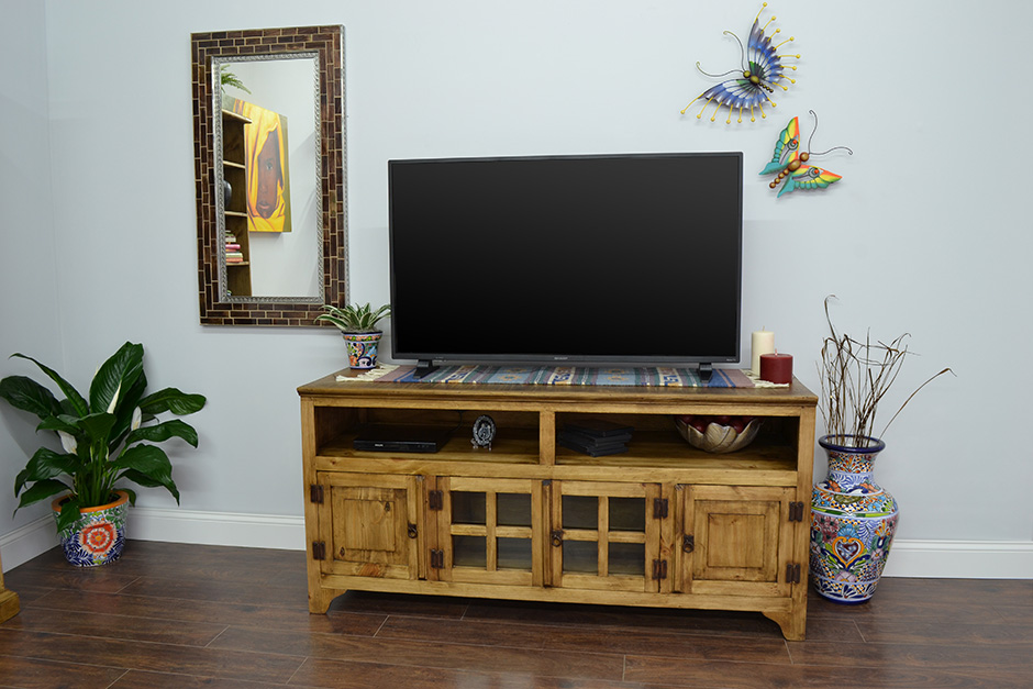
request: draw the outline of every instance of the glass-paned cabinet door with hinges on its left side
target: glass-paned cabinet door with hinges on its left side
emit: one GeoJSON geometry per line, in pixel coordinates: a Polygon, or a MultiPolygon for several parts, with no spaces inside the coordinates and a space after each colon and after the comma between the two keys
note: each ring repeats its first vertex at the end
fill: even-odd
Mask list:
{"type": "Polygon", "coordinates": [[[437,477],[437,547],[429,578],[542,586],[542,482],[437,477]]]}

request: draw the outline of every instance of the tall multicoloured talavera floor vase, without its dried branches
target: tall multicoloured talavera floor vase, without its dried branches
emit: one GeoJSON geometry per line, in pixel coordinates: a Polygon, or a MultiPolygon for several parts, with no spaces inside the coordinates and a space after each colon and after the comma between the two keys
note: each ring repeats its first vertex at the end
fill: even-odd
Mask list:
{"type": "Polygon", "coordinates": [[[863,603],[875,593],[897,532],[897,501],[871,476],[886,443],[825,435],[818,444],[829,476],[811,498],[811,581],[830,600],[863,603]]]}

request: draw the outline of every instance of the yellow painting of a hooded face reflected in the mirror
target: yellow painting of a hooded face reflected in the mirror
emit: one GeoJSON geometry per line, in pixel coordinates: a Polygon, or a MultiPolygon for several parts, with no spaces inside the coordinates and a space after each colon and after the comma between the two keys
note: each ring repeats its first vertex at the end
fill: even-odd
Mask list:
{"type": "Polygon", "coordinates": [[[244,170],[248,232],[290,232],[290,166],[287,118],[223,96],[222,107],[247,120],[244,170]]]}

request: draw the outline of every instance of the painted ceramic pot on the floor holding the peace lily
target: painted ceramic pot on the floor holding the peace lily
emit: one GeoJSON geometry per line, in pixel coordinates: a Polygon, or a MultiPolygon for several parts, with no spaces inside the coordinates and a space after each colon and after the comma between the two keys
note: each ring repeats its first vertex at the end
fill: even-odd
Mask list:
{"type": "MultiPolygon", "coordinates": [[[[79,520],[59,532],[65,559],[77,567],[95,567],[113,563],[122,556],[125,546],[125,512],[129,509],[129,493],[116,490],[119,499],[108,504],[79,510],[79,520]]],[[[60,514],[58,498],[51,503],[54,519],[60,514]]]]}

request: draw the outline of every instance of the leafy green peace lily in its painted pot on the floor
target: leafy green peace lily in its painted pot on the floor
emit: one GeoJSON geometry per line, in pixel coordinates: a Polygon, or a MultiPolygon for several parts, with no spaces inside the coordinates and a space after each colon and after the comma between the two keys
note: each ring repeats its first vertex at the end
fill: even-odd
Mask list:
{"type": "Polygon", "coordinates": [[[178,419],[154,423],[164,412],[182,416],[200,411],[206,399],[176,388],[145,396],[144,347],[126,342],[101,365],[81,396],[55,370],[31,356],[13,354],[40,367],[65,396],[58,401],[45,386],[25,376],[0,380],[0,397],[41,419],[37,431],[54,431],[64,452],[41,447],[14,479],[18,509],[52,498],[65,557],[73,565],[104,565],[118,559],[125,543],[126,503],[136,493],[124,485],[163,487],[179,502],[173,467],[160,447],[179,437],[197,447],[197,431],[178,419]]]}

